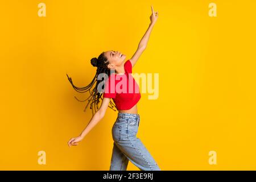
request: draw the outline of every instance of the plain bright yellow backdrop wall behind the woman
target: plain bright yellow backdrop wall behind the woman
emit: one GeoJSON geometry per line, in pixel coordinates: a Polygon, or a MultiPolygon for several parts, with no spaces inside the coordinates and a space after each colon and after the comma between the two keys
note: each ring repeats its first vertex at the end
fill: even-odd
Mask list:
{"type": "MultiPolygon", "coordinates": [[[[129,59],[159,11],[133,72],[159,73],[159,98],[142,94],[138,137],[162,170],[256,169],[255,7],[246,1],[1,1],[2,170],[109,170],[117,112],[79,146],[90,110],[92,57],[129,59]],[[46,17],[38,4],[46,3],[46,17]],[[217,17],[208,5],[217,4],[217,17]],[[46,165],[38,151],[46,151],[46,165]],[[217,164],[208,163],[209,151],[217,164]]],[[[128,170],[138,170],[129,162],[128,170]]]]}

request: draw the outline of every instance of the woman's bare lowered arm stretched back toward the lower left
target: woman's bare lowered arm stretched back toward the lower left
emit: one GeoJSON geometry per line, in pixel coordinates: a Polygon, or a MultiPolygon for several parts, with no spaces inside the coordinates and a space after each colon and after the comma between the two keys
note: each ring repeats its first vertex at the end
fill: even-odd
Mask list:
{"type": "Polygon", "coordinates": [[[92,130],[93,127],[97,125],[97,123],[104,117],[106,113],[106,109],[108,108],[109,102],[110,102],[110,98],[106,98],[106,97],[103,98],[100,109],[98,109],[98,111],[93,115],[92,119],[90,119],[90,122],[82,131],[82,133],[78,137],[71,138],[68,141],[69,147],[77,146],[77,144],[79,144],[77,142],[80,142],[82,139],[84,139],[84,137],[89,133],[89,131],[92,130]]]}

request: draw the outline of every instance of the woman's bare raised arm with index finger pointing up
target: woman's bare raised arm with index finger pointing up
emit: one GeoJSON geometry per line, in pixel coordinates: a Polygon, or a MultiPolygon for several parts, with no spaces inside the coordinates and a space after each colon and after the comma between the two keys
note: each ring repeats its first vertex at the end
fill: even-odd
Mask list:
{"type": "Polygon", "coordinates": [[[158,11],[156,11],[155,13],[152,6],[151,6],[151,11],[152,11],[152,14],[150,16],[150,25],[148,26],[146,33],[143,35],[141,41],[139,42],[137,51],[134,53],[133,57],[131,57],[130,59],[131,65],[133,65],[133,67],[137,62],[137,60],[139,59],[139,57],[142,55],[142,52],[146,49],[147,42],[148,42],[148,39],[150,38],[152,28],[154,27],[156,20],[158,19],[158,11]]]}

